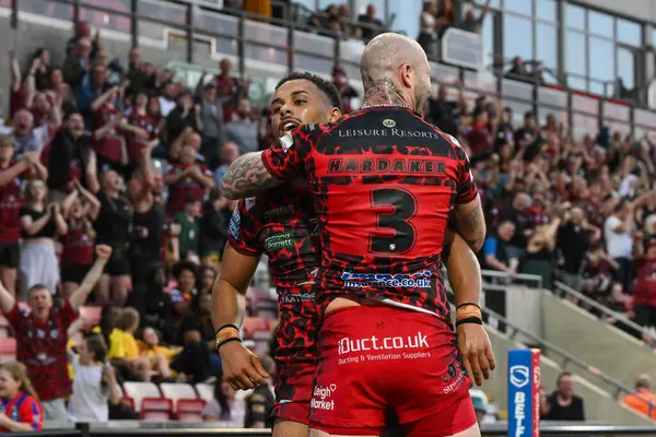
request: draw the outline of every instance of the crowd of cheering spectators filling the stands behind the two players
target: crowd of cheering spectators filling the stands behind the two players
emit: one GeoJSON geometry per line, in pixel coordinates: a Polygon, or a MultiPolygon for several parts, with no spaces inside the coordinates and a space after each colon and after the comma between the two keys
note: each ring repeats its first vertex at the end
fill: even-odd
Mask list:
{"type": "MultiPolygon", "coordinates": [[[[453,2],[441,4],[421,16],[427,50],[456,23],[453,2]]],[[[311,25],[375,36],[372,27],[344,26],[344,8],[328,8],[335,19],[313,16],[311,25]]],[[[470,11],[464,26],[479,32],[485,11],[470,11]]],[[[373,4],[359,20],[383,25],[373,4]]],[[[26,370],[3,366],[0,391],[9,378],[11,397],[38,397],[46,418],[106,421],[136,411],[148,418],[145,400],[130,400],[131,382],[156,382],[162,391],[187,383],[203,399],[201,409],[155,406],[152,417],[265,426],[258,402],[269,398],[236,394],[222,380],[209,306],[235,208],[218,186],[241,153],[277,141],[270,114],[251,106],[249,81],[227,59],[220,74],[203,73],[187,90],[139,48],[128,66],[117,55],[85,22],[61,62],[46,49],[28,59],[9,54],[0,306],[26,370]],[[84,311],[90,306],[97,317],[74,321],[77,310],[96,314],[84,311]],[[33,390],[23,387],[28,379],[33,390]],[[203,397],[204,383],[214,386],[203,397]]],[[[344,111],[355,109],[358,93],[343,69],[336,66],[332,75],[344,111]]],[[[575,138],[553,115],[541,125],[535,114],[513,114],[484,96],[471,104],[462,90],[448,98],[447,85],[459,86],[442,84],[426,118],[471,157],[489,221],[482,265],[509,279],[538,274],[546,288],[558,279],[656,327],[656,151],[648,137],[604,128],[575,138]]],[[[266,323],[267,335],[274,327],[266,323]]],[[[272,367],[268,356],[262,363],[272,367]]]]}

